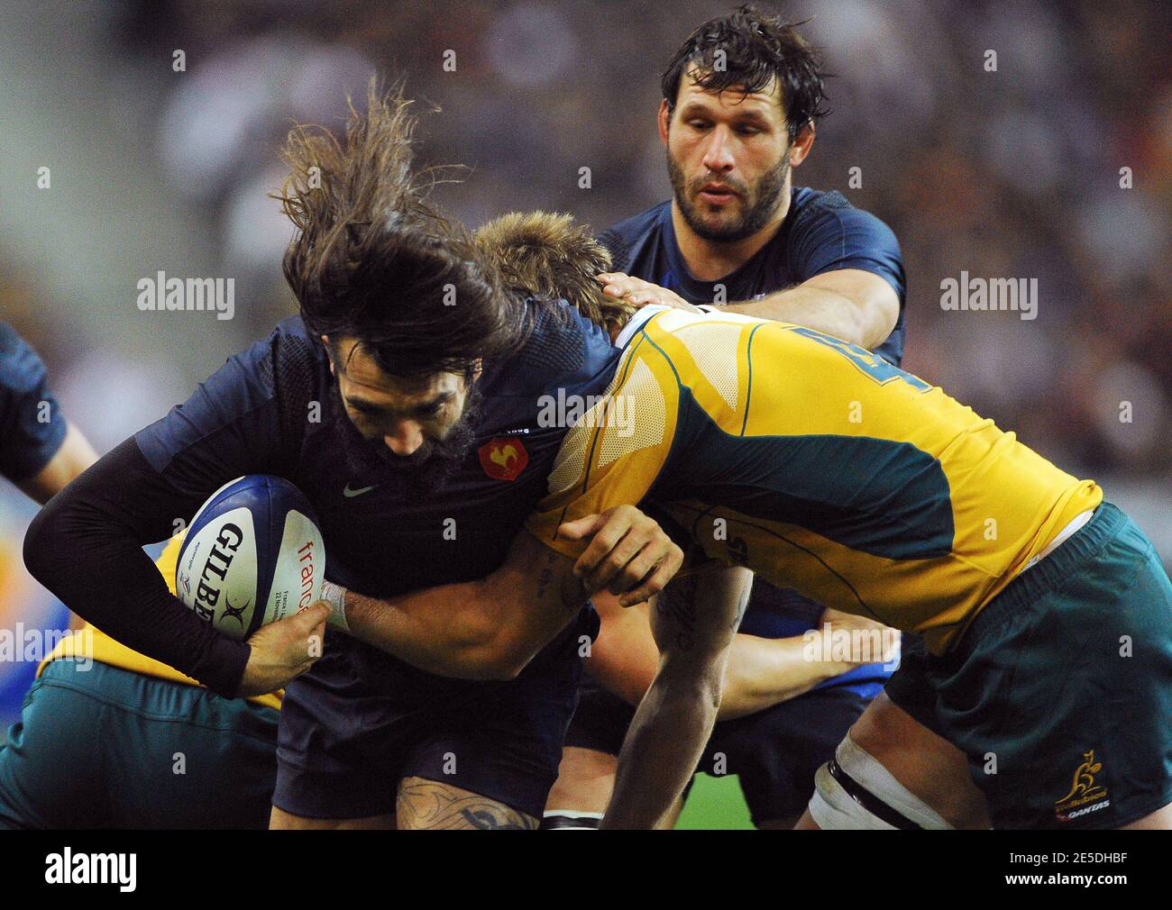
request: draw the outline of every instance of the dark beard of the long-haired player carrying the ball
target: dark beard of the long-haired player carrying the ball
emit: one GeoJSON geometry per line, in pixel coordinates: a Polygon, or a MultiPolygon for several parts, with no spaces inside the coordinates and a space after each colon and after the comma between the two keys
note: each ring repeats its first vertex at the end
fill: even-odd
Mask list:
{"type": "Polygon", "coordinates": [[[391,487],[408,499],[440,490],[459,470],[476,443],[473,429],[483,396],[475,385],[468,390],[459,422],[443,439],[429,439],[409,456],[396,456],[382,439],[367,439],[352,423],[342,405],[338,383],[331,383],[328,432],[342,444],[342,457],[352,481],[363,486],[391,487]]]}

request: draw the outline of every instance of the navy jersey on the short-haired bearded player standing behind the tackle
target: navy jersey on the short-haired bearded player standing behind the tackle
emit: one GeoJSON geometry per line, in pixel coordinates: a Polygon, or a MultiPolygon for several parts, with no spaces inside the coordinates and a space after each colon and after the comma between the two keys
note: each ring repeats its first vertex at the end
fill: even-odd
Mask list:
{"type": "Polygon", "coordinates": [[[899,297],[899,320],[875,349],[897,367],[904,357],[906,281],[899,241],[887,225],[841,193],[795,186],[781,230],[748,262],[717,281],[688,273],[672,224],[672,200],[652,206],[599,235],[614,271],[674,290],[690,303],[711,303],[716,285],[736,303],[800,285],[815,275],[858,268],[887,281],[899,297]]]}

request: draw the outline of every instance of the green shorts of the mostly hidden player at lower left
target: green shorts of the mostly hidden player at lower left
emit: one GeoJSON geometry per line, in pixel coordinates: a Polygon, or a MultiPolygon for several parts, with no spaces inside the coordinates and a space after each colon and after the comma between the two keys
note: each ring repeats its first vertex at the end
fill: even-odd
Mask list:
{"type": "Polygon", "coordinates": [[[0,748],[0,827],[264,828],[278,712],[53,661],[0,748]]]}

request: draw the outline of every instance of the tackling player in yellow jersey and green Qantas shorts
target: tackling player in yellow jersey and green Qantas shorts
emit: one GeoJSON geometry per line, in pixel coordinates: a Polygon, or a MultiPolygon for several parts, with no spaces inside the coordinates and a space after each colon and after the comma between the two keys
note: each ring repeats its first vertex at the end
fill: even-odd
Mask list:
{"type": "MultiPolygon", "coordinates": [[[[588,268],[606,255],[572,240],[547,262],[579,255],[588,268]]],[[[554,271],[565,288],[573,268],[554,271]]],[[[1095,481],[924,379],[800,326],[649,306],[616,342],[614,383],[566,435],[529,531],[572,557],[582,543],[565,522],[639,502],[709,559],[919,634],[926,652],[895,671],[892,700],[907,724],[922,725],[917,712],[931,723],[919,740],[963,754],[994,827],[1172,827],[1172,582],[1095,481]],[[638,415],[634,436],[608,418],[620,402],[638,415]]],[[[602,827],[661,825],[711,733],[740,617],[701,596],[707,575],[682,574],[653,609],[660,668],[602,827]]],[[[502,593],[489,577],[395,608],[459,597],[504,625],[531,609],[502,593]]],[[[884,796],[888,807],[902,798],[897,808],[920,827],[946,827],[911,785],[901,793],[864,757],[850,764],[819,773],[819,793],[826,775],[841,788],[830,794],[836,812],[866,800],[891,819],[884,796]],[[867,799],[868,788],[881,795],[867,799]]]]}

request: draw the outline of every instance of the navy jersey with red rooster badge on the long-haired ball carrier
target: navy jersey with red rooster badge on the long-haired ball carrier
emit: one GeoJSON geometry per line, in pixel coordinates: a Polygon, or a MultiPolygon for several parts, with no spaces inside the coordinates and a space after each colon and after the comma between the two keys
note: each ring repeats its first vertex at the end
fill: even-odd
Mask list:
{"type": "Polygon", "coordinates": [[[231,357],[135,439],[155,471],[192,501],[241,474],[275,473],[295,484],[316,511],[326,574],[339,584],[393,596],[481,579],[499,567],[546,493],[566,432],[563,420],[541,425],[550,423],[547,402],[601,395],[618,361],[602,329],[564,302],[548,307],[536,310],[519,351],[484,364],[476,443],[425,497],[349,472],[327,418],[335,392],[326,350],[300,317],[231,357]],[[319,423],[307,419],[314,402],[319,423]]]}

